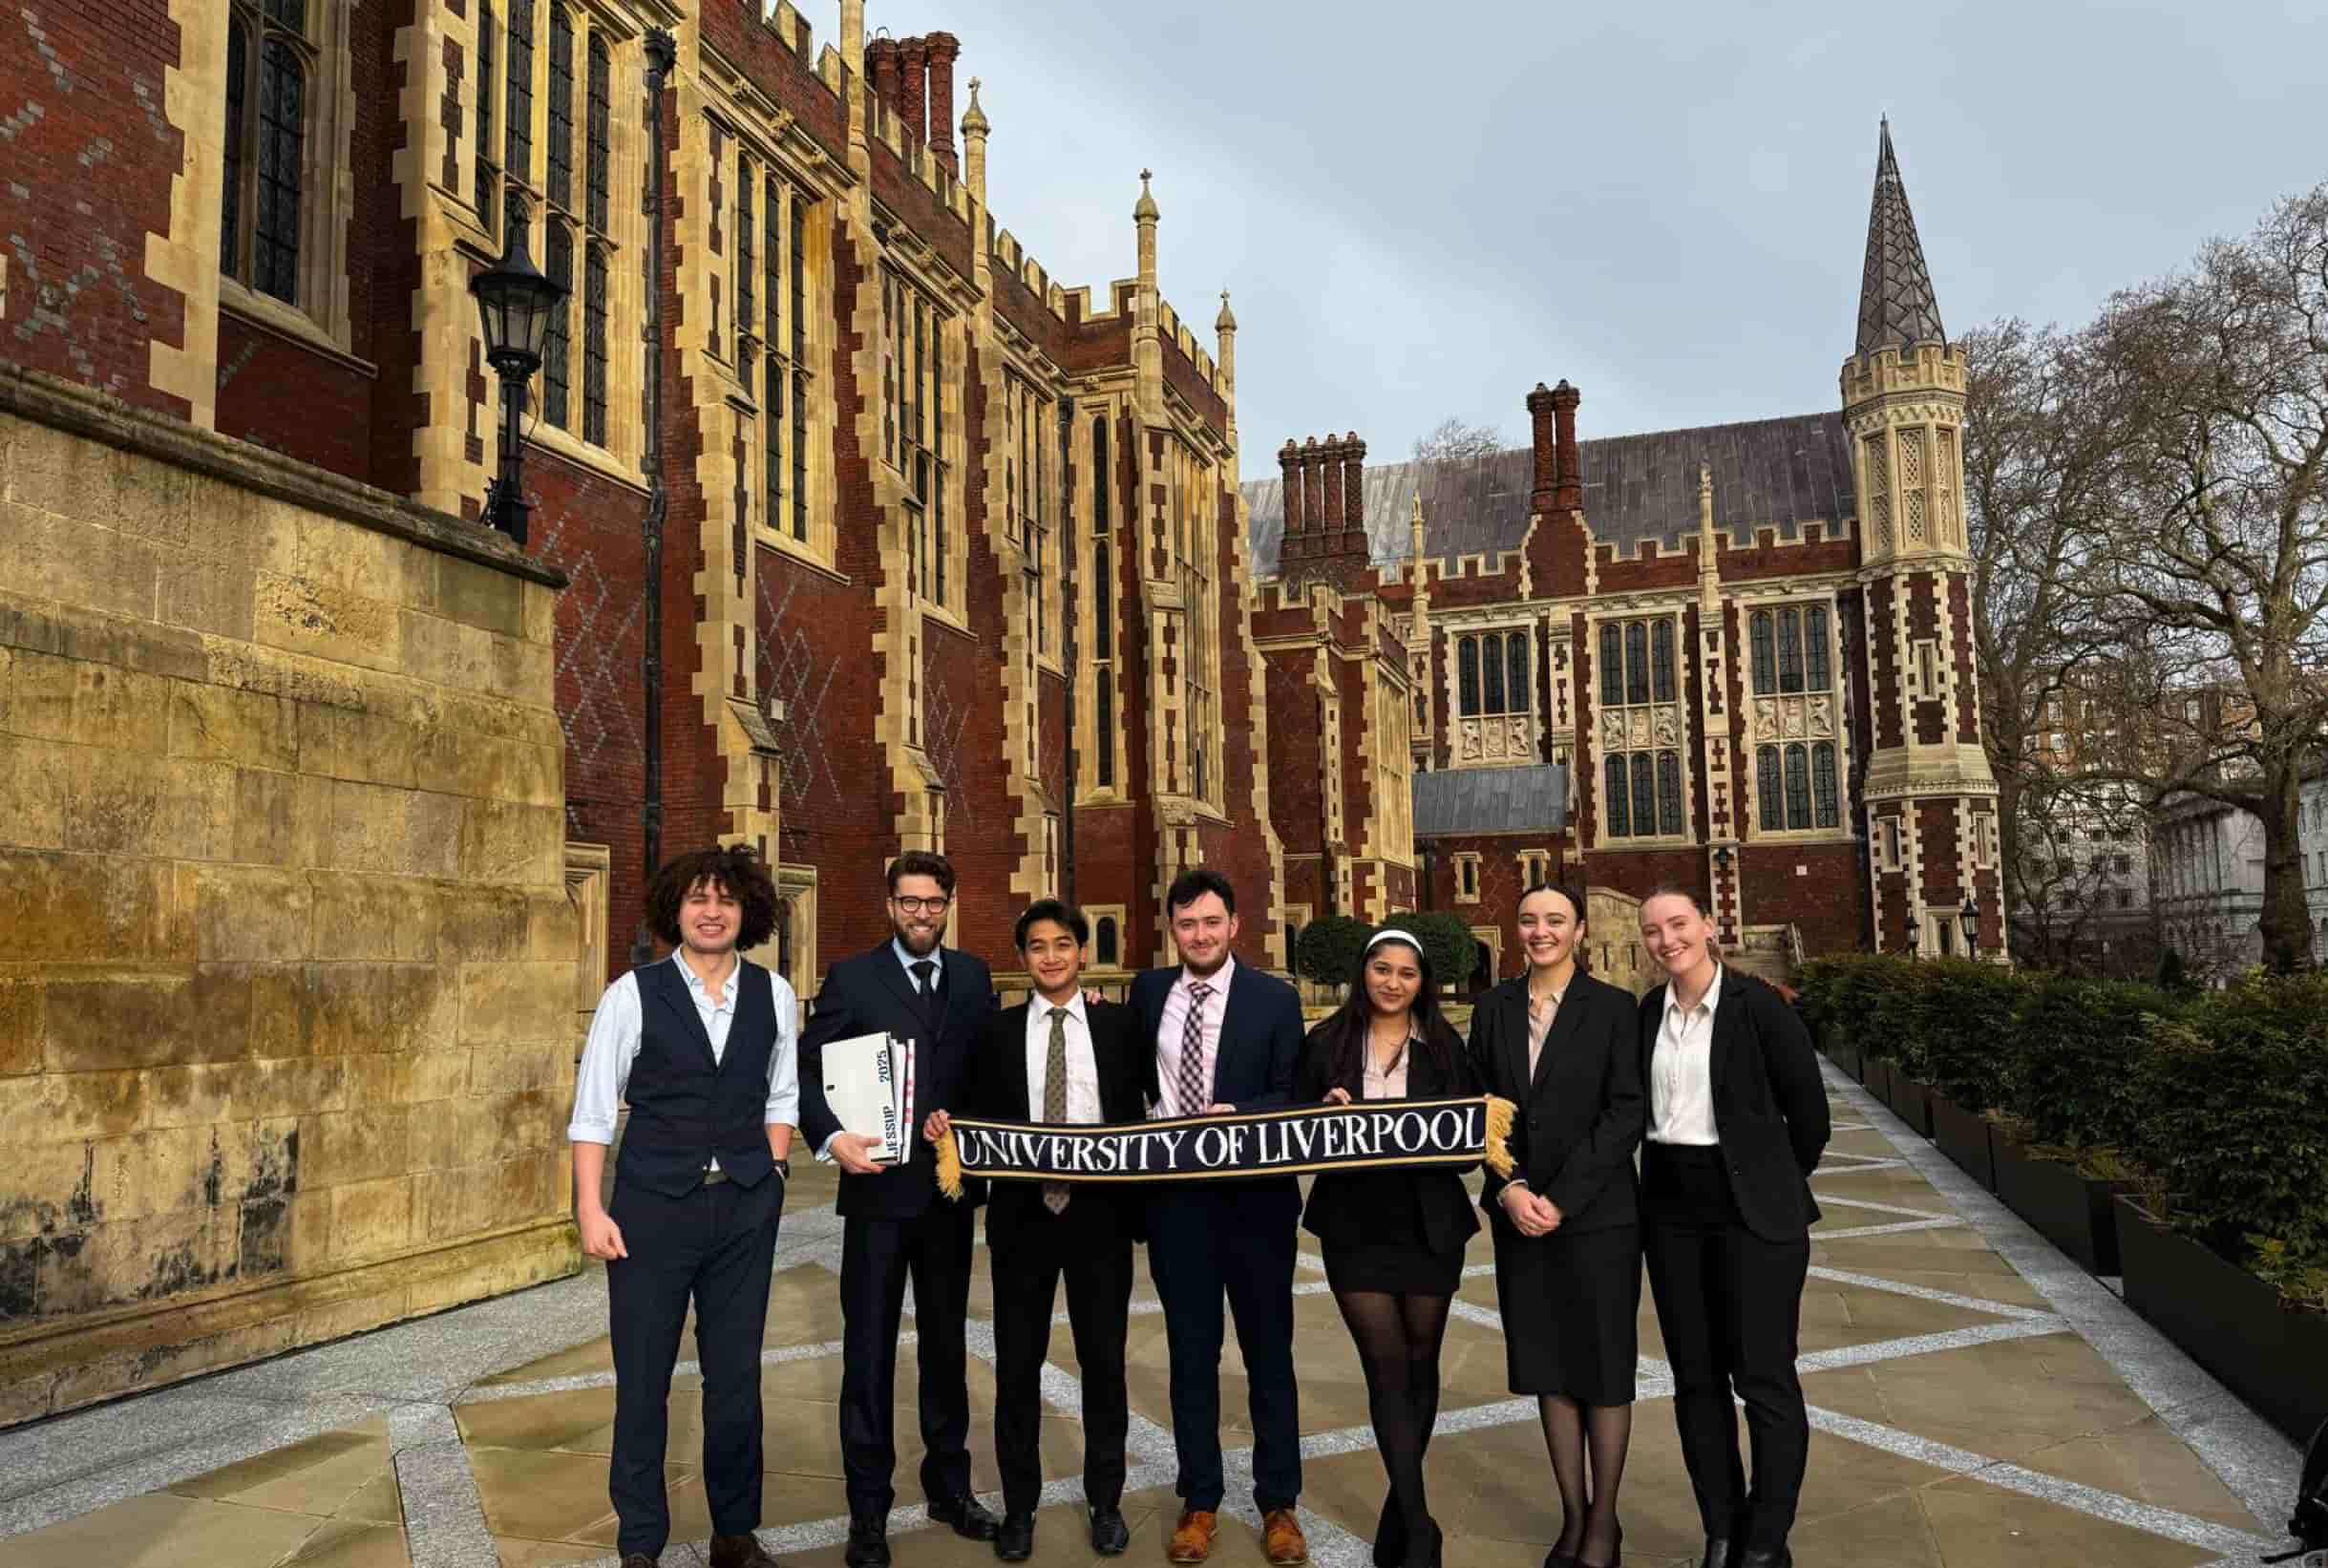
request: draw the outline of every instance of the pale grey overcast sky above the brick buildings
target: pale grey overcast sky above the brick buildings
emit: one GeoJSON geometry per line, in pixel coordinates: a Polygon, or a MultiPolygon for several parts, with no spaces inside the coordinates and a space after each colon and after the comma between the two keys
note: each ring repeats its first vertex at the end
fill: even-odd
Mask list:
{"type": "MultiPolygon", "coordinates": [[[[796,0],[822,42],[836,0],[796,0]]],[[[1245,477],[1287,437],[1399,461],[1448,414],[1527,440],[1804,414],[1851,349],[1876,119],[1960,333],[2111,288],[2328,177],[2328,7],[1632,0],[871,0],[961,40],[996,223],[1064,286],[1236,307],[1245,477]]]]}

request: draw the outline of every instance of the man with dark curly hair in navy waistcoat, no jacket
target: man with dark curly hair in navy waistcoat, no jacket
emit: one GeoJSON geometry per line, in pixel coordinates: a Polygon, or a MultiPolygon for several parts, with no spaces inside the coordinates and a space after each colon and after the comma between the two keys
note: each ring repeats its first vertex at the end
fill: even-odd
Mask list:
{"type": "Polygon", "coordinates": [[[654,1568],[670,1535],[663,1447],[691,1300],[712,1568],[775,1568],[754,1538],[759,1347],[801,1103],[799,1000],[780,975],[740,956],[775,928],[775,884],[745,844],[682,854],[647,889],[647,926],[670,958],[622,975],[598,998],[566,1128],[582,1252],[605,1259],[617,1549],[622,1568],[654,1568]],[[601,1203],[624,1100],[631,1126],[615,1196],[601,1203]]]}

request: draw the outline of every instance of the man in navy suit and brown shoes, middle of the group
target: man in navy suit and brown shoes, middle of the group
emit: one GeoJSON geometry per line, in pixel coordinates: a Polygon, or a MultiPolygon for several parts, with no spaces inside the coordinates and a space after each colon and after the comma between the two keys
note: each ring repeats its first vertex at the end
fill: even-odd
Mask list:
{"type": "MultiPolygon", "coordinates": [[[[1236,889],[1218,870],[1185,870],[1164,893],[1180,965],[1131,982],[1131,1014],[1155,1042],[1157,1114],[1211,1117],[1292,1105],[1301,998],[1236,963],[1236,889]]],[[[1148,1273],[1171,1345],[1171,1428],[1180,1456],[1180,1524],[1169,1559],[1213,1554],[1220,1496],[1222,1296],[1236,1317],[1252,1407],[1252,1503],[1271,1563],[1308,1561],[1294,1391],[1294,1226],[1301,1184],[1164,1182],[1148,1203],[1148,1273]]]]}

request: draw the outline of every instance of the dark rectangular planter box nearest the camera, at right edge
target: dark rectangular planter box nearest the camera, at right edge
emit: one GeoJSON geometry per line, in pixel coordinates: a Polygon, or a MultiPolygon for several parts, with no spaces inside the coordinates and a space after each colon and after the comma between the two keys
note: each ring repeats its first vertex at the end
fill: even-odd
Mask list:
{"type": "Polygon", "coordinates": [[[2302,1442],[2328,1410],[2328,1319],[2118,1198],[2125,1305],[2302,1442]]]}

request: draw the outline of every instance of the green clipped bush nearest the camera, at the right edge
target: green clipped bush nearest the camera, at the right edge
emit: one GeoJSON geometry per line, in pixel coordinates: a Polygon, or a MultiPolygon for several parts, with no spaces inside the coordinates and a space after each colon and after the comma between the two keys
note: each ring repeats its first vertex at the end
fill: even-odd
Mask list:
{"type": "Polygon", "coordinates": [[[2223,1256],[2328,1263],[2328,975],[2251,975],[2144,1035],[2123,1147],[2153,1203],[2223,1256]]]}

